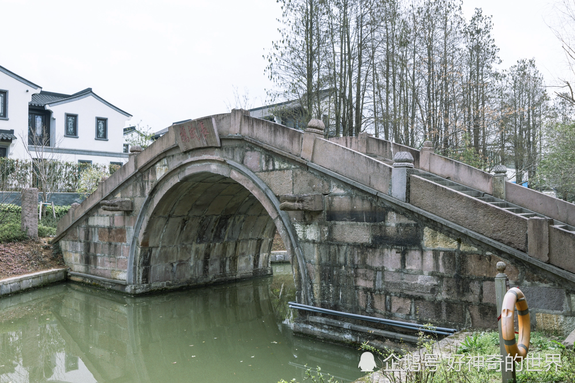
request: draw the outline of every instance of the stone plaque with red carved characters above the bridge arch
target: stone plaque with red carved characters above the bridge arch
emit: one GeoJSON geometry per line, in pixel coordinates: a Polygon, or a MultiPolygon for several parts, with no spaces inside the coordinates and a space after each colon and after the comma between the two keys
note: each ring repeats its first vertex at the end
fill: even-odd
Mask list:
{"type": "Polygon", "coordinates": [[[172,127],[182,152],[207,146],[221,146],[213,117],[198,118],[172,127]]]}

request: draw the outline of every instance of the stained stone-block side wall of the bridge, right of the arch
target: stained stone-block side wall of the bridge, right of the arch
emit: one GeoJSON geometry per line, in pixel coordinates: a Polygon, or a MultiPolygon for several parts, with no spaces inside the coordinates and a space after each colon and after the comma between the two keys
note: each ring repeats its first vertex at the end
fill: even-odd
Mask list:
{"type": "Polygon", "coordinates": [[[294,217],[316,305],[443,327],[494,328],[493,277],[504,261],[511,286],[528,297],[534,328],[565,334],[575,328],[575,290],[561,279],[345,185],[332,182],[325,201],[323,213],[294,217]]]}

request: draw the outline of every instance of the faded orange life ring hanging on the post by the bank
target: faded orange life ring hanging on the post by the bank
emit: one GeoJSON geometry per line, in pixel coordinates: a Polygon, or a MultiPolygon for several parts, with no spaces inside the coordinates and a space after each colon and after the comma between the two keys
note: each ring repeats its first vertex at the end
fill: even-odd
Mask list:
{"type": "Polygon", "coordinates": [[[505,351],[508,355],[525,358],[529,351],[531,338],[531,321],[529,308],[523,292],[517,288],[509,289],[503,298],[501,305],[501,335],[505,351]],[[519,343],[515,342],[515,324],[513,316],[517,307],[517,319],[519,321],[519,343]]]}

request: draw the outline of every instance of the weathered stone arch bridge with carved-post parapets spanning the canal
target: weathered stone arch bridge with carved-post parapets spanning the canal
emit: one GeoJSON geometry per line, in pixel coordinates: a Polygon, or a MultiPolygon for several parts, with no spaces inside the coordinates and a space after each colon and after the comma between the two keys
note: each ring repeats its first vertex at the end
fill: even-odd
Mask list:
{"type": "Polygon", "coordinates": [[[306,304],[493,327],[504,260],[534,325],[575,328],[573,204],[428,143],[324,139],[312,121],[232,110],[172,125],[60,221],[68,277],[138,294],[269,275],[277,230],[306,304]]]}

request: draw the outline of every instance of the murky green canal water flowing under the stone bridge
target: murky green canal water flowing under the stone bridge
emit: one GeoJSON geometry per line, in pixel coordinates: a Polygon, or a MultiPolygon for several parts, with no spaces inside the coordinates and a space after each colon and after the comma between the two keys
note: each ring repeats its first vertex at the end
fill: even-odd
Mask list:
{"type": "Polygon", "coordinates": [[[350,382],[361,352],[294,336],[289,264],[274,276],[131,297],[63,283],[0,298],[0,383],[350,382]]]}

